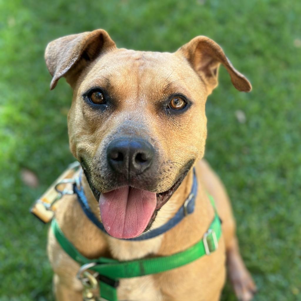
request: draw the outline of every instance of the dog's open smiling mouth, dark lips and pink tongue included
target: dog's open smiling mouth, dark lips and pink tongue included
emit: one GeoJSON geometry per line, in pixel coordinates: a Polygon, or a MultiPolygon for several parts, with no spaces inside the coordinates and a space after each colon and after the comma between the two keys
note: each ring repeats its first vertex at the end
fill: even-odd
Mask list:
{"type": "Polygon", "coordinates": [[[99,200],[101,220],[107,233],[116,238],[134,238],[151,228],[158,211],[169,200],[187,175],[192,163],[168,190],[155,193],[122,186],[99,193],[91,184],[85,165],[82,168],[95,198],[99,200]]]}

